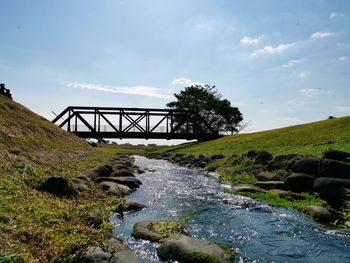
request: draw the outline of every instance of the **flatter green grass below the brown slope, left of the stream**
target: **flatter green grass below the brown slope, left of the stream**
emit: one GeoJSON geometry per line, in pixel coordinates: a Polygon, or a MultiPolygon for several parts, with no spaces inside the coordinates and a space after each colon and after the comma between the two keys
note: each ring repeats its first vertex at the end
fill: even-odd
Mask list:
{"type": "Polygon", "coordinates": [[[40,192],[49,176],[74,177],[89,167],[108,163],[104,154],[47,167],[25,164],[0,172],[0,262],[20,256],[25,262],[79,262],[90,244],[111,236],[108,218],[119,199],[99,189],[80,192],[74,199],[40,192]],[[91,213],[101,217],[93,225],[91,213]],[[6,260],[4,257],[6,256],[6,260]]]}

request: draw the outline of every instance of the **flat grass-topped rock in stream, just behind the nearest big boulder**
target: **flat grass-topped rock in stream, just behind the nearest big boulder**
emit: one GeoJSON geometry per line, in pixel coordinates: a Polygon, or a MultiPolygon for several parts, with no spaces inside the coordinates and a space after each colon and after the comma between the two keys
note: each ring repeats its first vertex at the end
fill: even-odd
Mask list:
{"type": "Polygon", "coordinates": [[[176,221],[145,220],[134,225],[131,235],[151,242],[162,242],[173,234],[187,234],[183,224],[176,221]]]}

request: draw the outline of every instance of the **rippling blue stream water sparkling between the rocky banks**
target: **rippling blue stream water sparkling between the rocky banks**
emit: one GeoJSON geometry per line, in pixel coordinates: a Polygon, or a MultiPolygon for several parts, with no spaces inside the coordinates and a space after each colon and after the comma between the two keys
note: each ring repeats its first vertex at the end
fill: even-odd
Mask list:
{"type": "Polygon", "coordinates": [[[198,238],[230,245],[233,262],[350,262],[350,236],[331,231],[291,209],[269,207],[223,193],[215,175],[163,160],[135,157],[146,173],[129,198],[148,205],[121,218],[111,217],[114,234],[136,252],[140,262],[162,262],[156,244],[131,237],[141,220],[188,217],[186,228],[198,238]]]}

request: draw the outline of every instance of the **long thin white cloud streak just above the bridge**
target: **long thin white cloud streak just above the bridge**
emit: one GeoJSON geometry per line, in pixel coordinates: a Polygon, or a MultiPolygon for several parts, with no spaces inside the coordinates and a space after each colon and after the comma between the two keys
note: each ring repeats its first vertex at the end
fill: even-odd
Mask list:
{"type": "Polygon", "coordinates": [[[161,89],[148,87],[148,86],[116,87],[111,85],[83,83],[83,82],[65,82],[64,84],[69,88],[97,90],[97,91],[103,91],[103,92],[130,94],[130,95],[142,95],[142,96],[155,97],[155,98],[161,98],[161,99],[172,98],[169,95],[163,94],[161,89]]]}

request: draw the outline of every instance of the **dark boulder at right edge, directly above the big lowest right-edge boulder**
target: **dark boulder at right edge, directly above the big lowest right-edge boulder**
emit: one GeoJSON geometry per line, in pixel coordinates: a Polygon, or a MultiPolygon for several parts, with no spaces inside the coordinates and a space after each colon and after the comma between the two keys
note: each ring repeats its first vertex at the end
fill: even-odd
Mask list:
{"type": "Polygon", "coordinates": [[[350,163],[322,159],[318,166],[318,177],[350,179],[350,163]]]}

